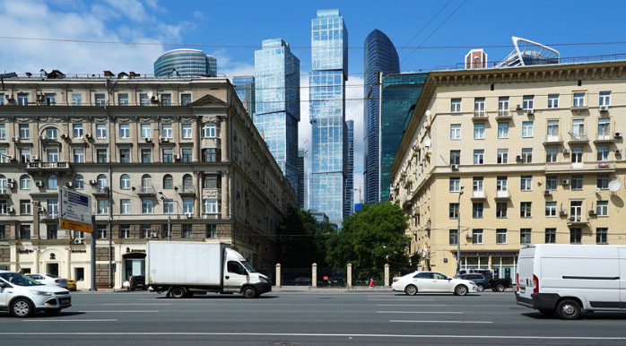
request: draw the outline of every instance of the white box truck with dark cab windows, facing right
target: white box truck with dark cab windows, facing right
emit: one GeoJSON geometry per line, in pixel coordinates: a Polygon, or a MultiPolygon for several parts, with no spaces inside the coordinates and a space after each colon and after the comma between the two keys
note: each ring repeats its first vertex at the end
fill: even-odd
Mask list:
{"type": "Polygon", "coordinates": [[[257,298],[272,290],[265,275],[221,243],[149,241],[146,260],[146,284],[173,298],[206,292],[242,293],[244,298],[257,298]]]}

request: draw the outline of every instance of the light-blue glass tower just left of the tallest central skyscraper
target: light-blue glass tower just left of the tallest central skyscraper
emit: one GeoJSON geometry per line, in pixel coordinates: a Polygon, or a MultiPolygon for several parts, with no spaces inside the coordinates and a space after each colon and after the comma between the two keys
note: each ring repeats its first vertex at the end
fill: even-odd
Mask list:
{"type": "Polygon", "coordinates": [[[264,39],[255,51],[255,93],[256,129],[298,191],[300,60],[283,39],[264,39]]]}

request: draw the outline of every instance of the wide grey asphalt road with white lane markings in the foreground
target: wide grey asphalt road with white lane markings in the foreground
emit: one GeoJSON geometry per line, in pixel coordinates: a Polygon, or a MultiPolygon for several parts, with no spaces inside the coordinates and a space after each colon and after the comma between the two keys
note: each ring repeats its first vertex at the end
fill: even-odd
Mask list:
{"type": "Polygon", "coordinates": [[[517,306],[512,292],[273,292],[251,300],[76,293],[59,316],[0,312],[0,344],[626,344],[626,314],[583,317],[544,317],[517,306]]]}

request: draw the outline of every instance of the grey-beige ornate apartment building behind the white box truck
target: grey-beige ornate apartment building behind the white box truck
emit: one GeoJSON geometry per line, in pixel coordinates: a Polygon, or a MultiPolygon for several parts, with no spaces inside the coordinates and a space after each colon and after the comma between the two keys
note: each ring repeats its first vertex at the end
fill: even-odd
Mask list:
{"type": "Polygon", "coordinates": [[[40,77],[0,91],[0,269],[89,287],[91,236],[59,228],[59,186],[91,195],[100,287],[144,274],[148,239],[274,264],[295,192],[227,79],[40,77]]]}

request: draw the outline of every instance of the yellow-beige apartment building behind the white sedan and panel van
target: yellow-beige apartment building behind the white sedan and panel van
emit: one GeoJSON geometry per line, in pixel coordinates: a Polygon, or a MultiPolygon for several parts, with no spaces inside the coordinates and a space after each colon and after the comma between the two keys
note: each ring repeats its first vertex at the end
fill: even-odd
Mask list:
{"type": "Polygon", "coordinates": [[[525,244],[626,243],[625,78],[626,61],[430,73],[391,168],[413,264],[454,274],[460,242],[462,269],[514,279],[525,244]]]}

